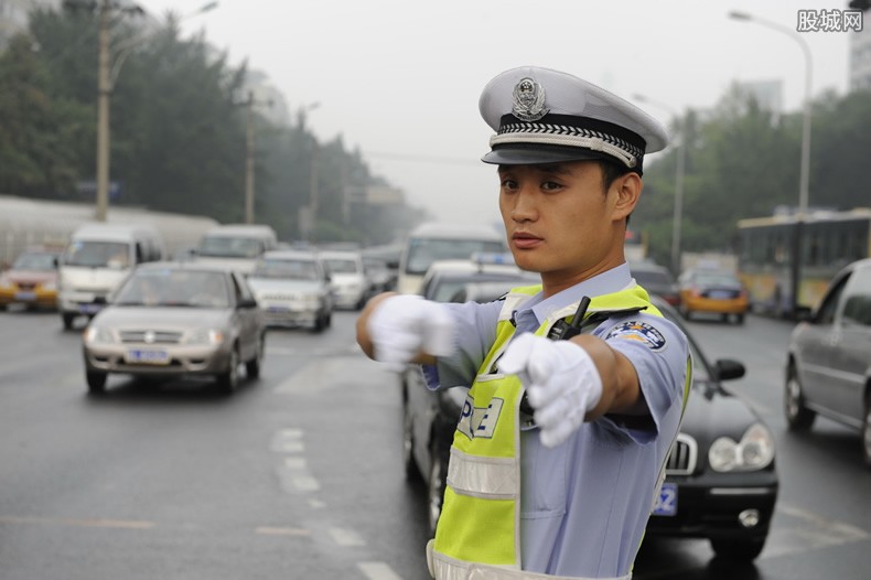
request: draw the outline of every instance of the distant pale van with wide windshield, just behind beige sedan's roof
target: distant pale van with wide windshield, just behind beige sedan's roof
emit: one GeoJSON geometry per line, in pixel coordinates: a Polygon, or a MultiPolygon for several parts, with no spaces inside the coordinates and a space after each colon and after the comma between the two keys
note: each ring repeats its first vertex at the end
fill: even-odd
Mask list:
{"type": "Polygon", "coordinates": [[[227,224],[206,232],[195,254],[196,261],[216,264],[248,276],[264,253],[275,249],[278,249],[278,236],[271,227],[227,224]]]}

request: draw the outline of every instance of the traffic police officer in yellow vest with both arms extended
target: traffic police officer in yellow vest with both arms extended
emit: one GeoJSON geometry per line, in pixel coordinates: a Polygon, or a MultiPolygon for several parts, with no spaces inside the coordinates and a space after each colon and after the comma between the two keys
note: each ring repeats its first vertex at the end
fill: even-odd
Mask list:
{"type": "Polygon", "coordinates": [[[439,579],[630,578],[689,385],[684,334],[623,255],[645,153],[664,128],[572,75],[526,66],[481,95],[499,210],[541,284],[488,304],[385,293],[357,341],[471,385],[427,548],[439,579]]]}

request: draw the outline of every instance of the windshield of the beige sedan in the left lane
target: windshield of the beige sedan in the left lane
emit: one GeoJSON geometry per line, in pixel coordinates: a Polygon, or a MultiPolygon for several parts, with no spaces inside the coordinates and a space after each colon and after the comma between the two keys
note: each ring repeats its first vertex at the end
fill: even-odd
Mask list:
{"type": "Polygon", "coordinates": [[[148,269],[131,276],[112,301],[119,307],[229,308],[222,272],[148,269]]]}

